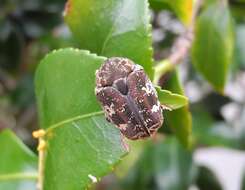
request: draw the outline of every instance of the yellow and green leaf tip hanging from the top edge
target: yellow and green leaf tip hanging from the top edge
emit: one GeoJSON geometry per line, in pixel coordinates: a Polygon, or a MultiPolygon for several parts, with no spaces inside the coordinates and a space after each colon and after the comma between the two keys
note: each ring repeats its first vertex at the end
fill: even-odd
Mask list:
{"type": "Polygon", "coordinates": [[[150,5],[155,10],[169,7],[185,25],[191,23],[193,0],[150,0],[150,5]]]}

